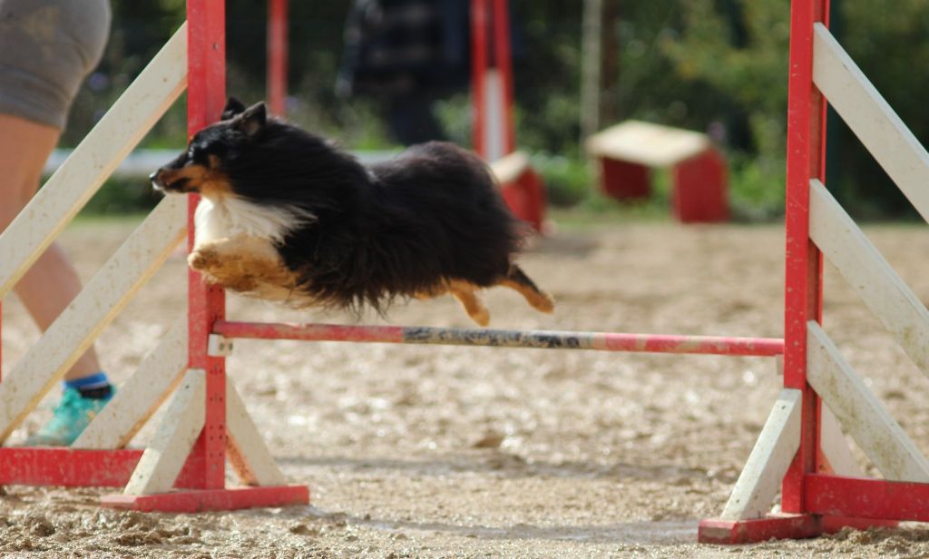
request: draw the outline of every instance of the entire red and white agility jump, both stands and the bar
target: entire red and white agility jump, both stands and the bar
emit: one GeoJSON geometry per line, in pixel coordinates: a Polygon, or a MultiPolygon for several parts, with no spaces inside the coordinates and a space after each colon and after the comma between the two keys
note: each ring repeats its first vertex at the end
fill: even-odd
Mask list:
{"type": "MultiPolygon", "coordinates": [[[[106,497],[103,504],[143,511],[306,503],[307,487],[285,484],[226,379],[224,357],[234,338],[783,354],[784,389],[721,518],[700,523],[700,541],[805,538],[843,526],[929,521],[924,506],[929,461],[820,326],[825,255],[929,373],[929,311],[822,185],[823,96],[927,219],[929,192],[922,182],[929,174],[929,153],[832,38],[824,25],[827,11],[828,0],[792,2],[784,340],[234,322],[225,319],[223,293],[190,272],[188,312],[85,433],[71,448],[0,448],[0,485],[125,487],[123,495],[106,497]],[[175,396],[150,447],[124,448],[172,391],[175,396]],[[860,473],[844,444],[843,428],[886,481],[860,473]],[[226,487],[227,459],[246,487],[226,487]],[[781,512],[768,513],[779,491],[781,512]]],[[[0,298],[179,97],[185,83],[189,132],[216,120],[225,97],[223,28],[222,0],[191,0],[188,23],[0,235],[0,298]]],[[[196,202],[165,198],[0,383],[0,441],[164,263],[185,228],[190,244],[196,202]]]]}

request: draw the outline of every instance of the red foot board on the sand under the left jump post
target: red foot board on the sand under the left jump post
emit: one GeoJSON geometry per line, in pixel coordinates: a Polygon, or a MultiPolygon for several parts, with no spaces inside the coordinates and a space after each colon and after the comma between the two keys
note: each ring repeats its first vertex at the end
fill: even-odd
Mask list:
{"type": "Polygon", "coordinates": [[[100,499],[100,504],[107,508],[143,513],[201,513],[308,503],[307,486],[202,489],[157,495],[107,495],[100,499]]]}

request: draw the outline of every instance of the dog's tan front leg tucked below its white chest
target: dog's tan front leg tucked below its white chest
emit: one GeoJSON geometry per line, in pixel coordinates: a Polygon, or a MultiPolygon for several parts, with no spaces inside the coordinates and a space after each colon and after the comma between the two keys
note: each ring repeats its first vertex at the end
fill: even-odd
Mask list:
{"type": "Polygon", "coordinates": [[[209,282],[236,292],[254,292],[267,285],[290,290],[295,284],[294,274],[278,252],[260,239],[236,237],[205,243],[194,249],[188,262],[209,282]]]}

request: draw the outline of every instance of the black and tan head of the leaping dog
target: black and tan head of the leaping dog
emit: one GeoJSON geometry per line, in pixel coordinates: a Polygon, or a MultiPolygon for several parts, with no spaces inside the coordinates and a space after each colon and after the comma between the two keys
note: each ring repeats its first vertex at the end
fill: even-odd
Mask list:
{"type": "Polygon", "coordinates": [[[246,109],[242,101],[229,97],[220,118],[194,135],[187,150],[174,161],[149,176],[152,187],[217,198],[232,191],[226,167],[254,143],[268,123],[268,110],[263,102],[246,109]]]}

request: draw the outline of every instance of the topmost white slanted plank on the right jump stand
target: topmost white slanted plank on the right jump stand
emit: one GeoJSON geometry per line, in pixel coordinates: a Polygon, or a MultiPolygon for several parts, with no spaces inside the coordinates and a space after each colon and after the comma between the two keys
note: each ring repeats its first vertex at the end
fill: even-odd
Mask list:
{"type": "Polygon", "coordinates": [[[929,221],[929,153],[821,23],[814,28],[813,83],[929,221]]]}

